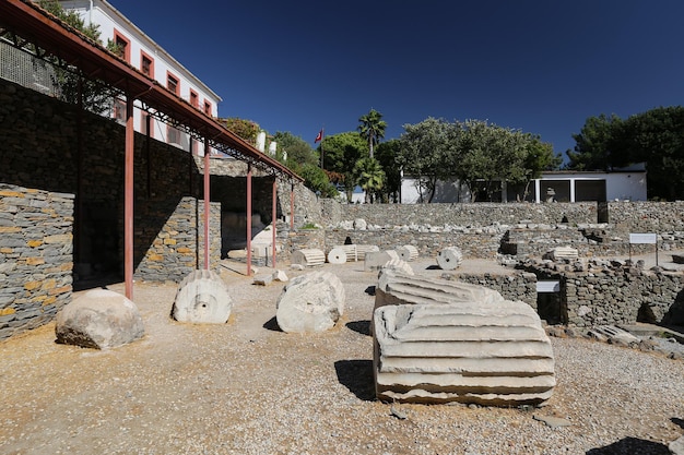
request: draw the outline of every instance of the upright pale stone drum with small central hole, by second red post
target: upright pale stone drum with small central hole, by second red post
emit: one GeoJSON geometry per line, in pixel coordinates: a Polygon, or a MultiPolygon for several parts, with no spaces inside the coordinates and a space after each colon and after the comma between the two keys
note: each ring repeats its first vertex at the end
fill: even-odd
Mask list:
{"type": "Polygon", "coordinates": [[[193,271],[178,286],[172,318],[178,322],[224,324],[233,300],[221,276],[212,271],[193,271]]]}

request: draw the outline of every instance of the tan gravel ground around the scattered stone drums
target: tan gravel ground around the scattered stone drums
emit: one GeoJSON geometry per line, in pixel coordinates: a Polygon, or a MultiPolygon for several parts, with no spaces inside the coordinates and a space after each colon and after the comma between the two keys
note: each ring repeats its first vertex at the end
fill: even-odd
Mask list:
{"type": "Polygon", "coordinates": [[[0,453],[669,454],[684,433],[684,361],[581,338],[551,339],[557,386],[543,408],[379,403],[375,274],[326,270],[345,286],[346,313],[322,334],[280,332],[283,284],[226,268],[227,324],[177,323],[176,286],[137,283],[141,340],[82,349],[56,344],[48,324],[0,343],[0,453]],[[547,416],[570,426],[534,418],[547,416]]]}

